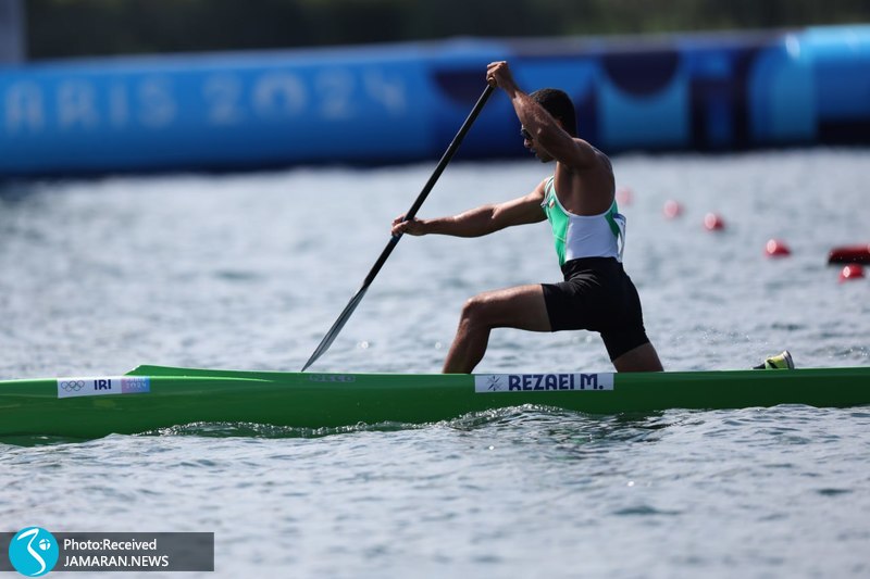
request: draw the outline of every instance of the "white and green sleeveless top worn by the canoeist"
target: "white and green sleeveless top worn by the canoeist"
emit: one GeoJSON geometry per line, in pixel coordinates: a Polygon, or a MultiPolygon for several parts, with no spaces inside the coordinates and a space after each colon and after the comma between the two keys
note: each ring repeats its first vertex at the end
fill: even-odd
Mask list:
{"type": "Polygon", "coordinates": [[[622,262],[625,216],[619,213],[616,200],[599,215],[574,215],[559,202],[555,179],[550,177],[540,206],[552,227],[559,265],[580,257],[616,257],[622,262]]]}

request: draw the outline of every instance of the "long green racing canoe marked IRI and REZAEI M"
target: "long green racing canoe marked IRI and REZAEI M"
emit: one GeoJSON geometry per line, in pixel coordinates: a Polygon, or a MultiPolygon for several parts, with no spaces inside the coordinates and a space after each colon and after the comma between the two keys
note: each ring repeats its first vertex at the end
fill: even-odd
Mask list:
{"type": "Polygon", "coordinates": [[[870,404],[870,367],[657,374],[313,374],[139,366],[0,381],[0,439],[77,439],[191,423],[425,424],[534,404],[589,414],[870,404]]]}

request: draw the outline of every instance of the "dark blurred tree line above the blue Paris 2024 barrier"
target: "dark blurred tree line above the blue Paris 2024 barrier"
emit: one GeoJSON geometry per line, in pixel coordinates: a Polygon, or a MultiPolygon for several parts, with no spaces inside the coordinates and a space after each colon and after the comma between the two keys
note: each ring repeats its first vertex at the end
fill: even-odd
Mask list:
{"type": "Polygon", "coordinates": [[[870,22],[868,0],[24,0],[32,60],[870,22]]]}

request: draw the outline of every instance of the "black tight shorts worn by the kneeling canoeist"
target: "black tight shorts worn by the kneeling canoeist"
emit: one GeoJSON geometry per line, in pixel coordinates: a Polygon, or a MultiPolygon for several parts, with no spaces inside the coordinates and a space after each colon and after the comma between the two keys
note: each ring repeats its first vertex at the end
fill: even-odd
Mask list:
{"type": "Polygon", "coordinates": [[[641,298],[621,263],[583,257],[566,263],[562,273],[564,281],[542,284],[552,331],[597,331],[611,361],[649,342],[641,298]]]}

